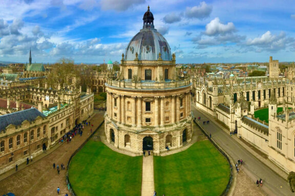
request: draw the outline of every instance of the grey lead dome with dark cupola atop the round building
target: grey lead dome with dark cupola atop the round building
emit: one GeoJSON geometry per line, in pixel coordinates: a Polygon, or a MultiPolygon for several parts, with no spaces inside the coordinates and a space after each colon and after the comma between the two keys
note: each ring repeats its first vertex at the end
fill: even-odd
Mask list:
{"type": "Polygon", "coordinates": [[[126,52],[125,60],[158,60],[159,53],[162,60],[171,61],[171,48],[166,39],[154,29],[154,16],[150,12],[150,7],[143,15],[143,28],[137,33],[129,42],[126,52]]]}

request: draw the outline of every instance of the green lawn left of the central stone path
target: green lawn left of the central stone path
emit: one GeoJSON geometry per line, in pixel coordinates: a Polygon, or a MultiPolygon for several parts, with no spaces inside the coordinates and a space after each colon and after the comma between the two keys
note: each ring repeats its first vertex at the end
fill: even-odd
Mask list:
{"type": "Polygon", "coordinates": [[[69,178],[77,195],[140,195],[142,157],[116,153],[90,140],[73,157],[69,178]]]}

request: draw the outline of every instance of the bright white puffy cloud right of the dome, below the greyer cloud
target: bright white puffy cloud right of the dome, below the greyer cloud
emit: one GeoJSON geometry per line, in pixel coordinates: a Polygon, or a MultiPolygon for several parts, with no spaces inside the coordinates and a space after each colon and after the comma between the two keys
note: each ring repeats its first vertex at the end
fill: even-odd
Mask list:
{"type": "Polygon", "coordinates": [[[219,34],[227,34],[236,31],[235,25],[233,22],[227,22],[227,24],[223,24],[220,22],[219,18],[216,17],[211,20],[208,24],[206,24],[205,33],[209,36],[219,35],[219,34]]]}

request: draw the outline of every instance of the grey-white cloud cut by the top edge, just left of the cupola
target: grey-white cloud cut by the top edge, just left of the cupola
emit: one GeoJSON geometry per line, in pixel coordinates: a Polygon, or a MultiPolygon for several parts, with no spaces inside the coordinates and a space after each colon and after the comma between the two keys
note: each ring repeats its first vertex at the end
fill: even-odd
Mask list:
{"type": "Polygon", "coordinates": [[[101,0],[100,6],[102,10],[124,11],[128,8],[145,3],[145,0],[101,0]]]}

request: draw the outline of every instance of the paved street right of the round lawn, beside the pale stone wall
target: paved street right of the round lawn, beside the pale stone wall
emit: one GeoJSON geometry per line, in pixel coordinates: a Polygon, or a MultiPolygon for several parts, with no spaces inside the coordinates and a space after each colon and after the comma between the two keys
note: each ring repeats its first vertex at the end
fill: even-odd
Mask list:
{"type": "Polygon", "coordinates": [[[221,146],[221,148],[233,159],[243,160],[243,170],[251,178],[253,183],[262,178],[264,181],[263,189],[268,195],[295,195],[290,191],[287,181],[281,176],[284,172],[276,165],[264,158],[261,154],[252,150],[248,145],[239,138],[229,135],[229,131],[215,121],[210,115],[192,107],[195,117],[201,116],[203,120],[210,120],[209,125],[201,125],[204,130],[212,134],[212,139],[221,146]],[[252,154],[253,153],[253,154],[252,154]],[[276,170],[276,172],[274,171],[276,170]],[[280,175],[278,175],[279,173],[280,175]]]}

